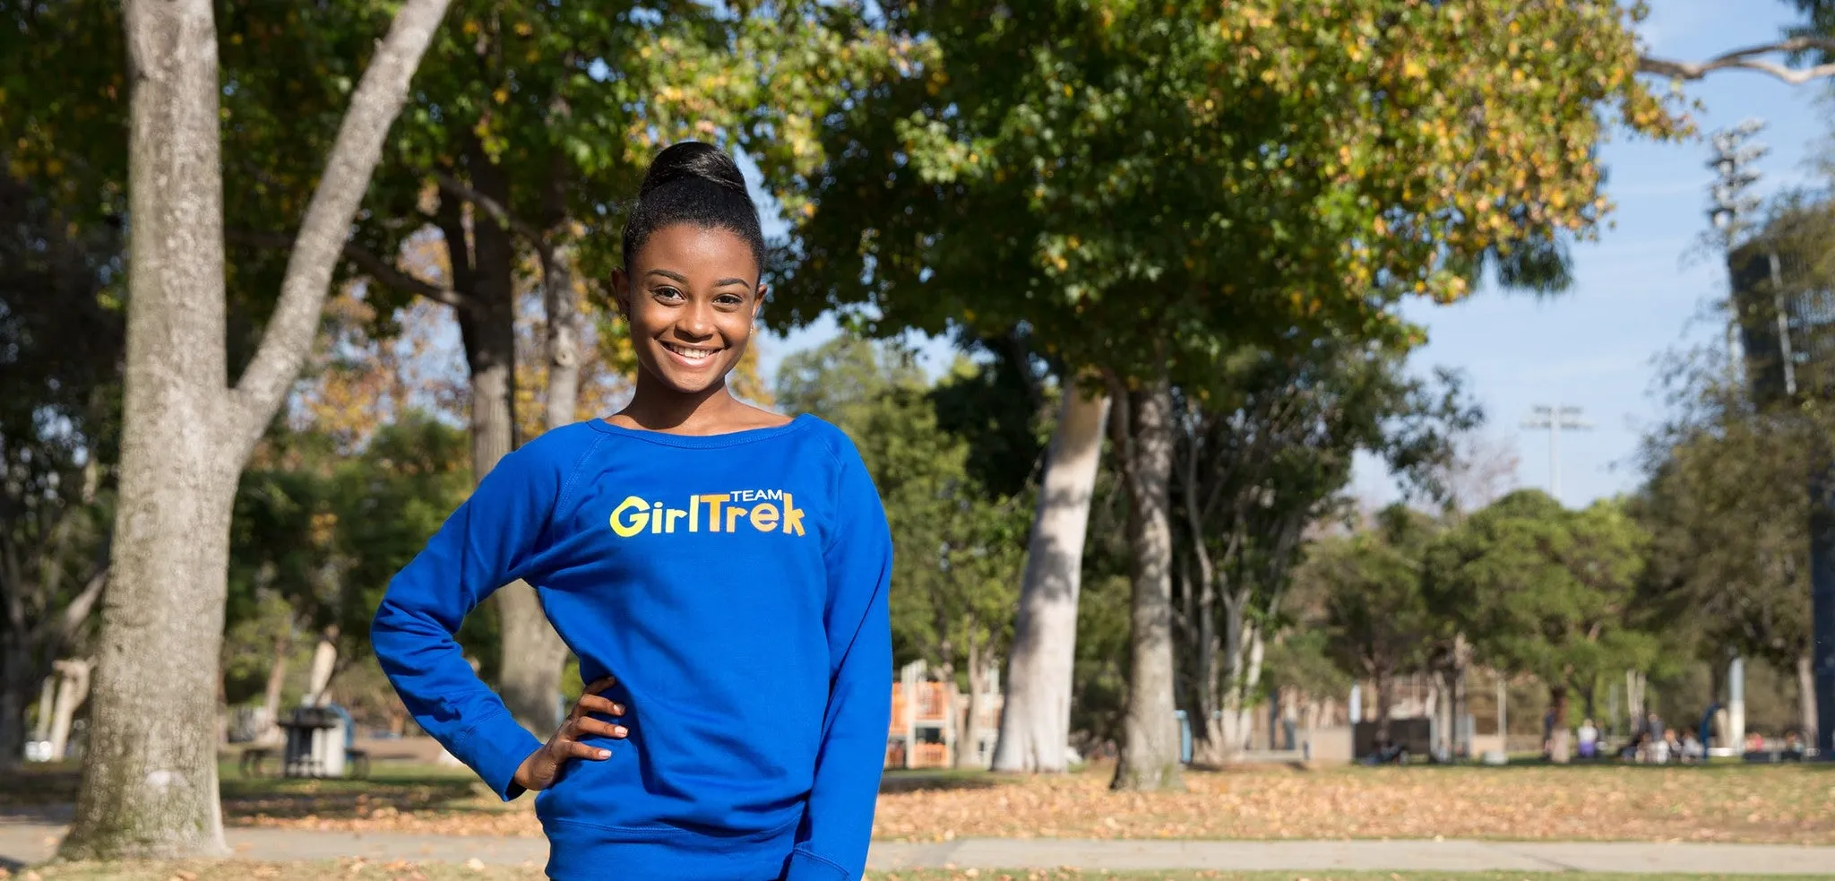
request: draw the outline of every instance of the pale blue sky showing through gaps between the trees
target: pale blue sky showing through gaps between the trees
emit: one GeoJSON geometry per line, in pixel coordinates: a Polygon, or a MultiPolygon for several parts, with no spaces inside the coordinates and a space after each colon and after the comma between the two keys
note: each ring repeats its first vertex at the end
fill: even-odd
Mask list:
{"type": "MultiPolygon", "coordinates": [[[[1795,20],[1778,0],[1653,0],[1640,33],[1659,57],[1701,61],[1732,48],[1769,42],[1795,20]]],[[[1760,141],[1758,191],[1809,184],[1809,156],[1826,138],[1829,117],[1822,86],[1789,86],[1752,72],[1719,72],[1685,86],[1703,108],[1703,132],[1745,117],[1767,121],[1760,141]]],[[[1464,303],[1411,303],[1404,314],[1428,329],[1429,341],[1413,356],[1418,371],[1435,365],[1466,374],[1468,391],[1485,406],[1485,440],[1518,453],[1516,485],[1549,486],[1547,431],[1518,424],[1536,404],[1584,407],[1591,431],[1562,435],[1562,501],[1585,505],[1637,486],[1631,457],[1644,426],[1661,417],[1653,396],[1655,360],[1668,351],[1714,340],[1719,327],[1708,307],[1725,297],[1727,272],[1699,248],[1707,229],[1708,145],[1703,139],[1650,143],[1615,132],[1602,151],[1609,169],[1607,196],[1617,202],[1613,226],[1598,242],[1574,250],[1574,288],[1556,299],[1505,296],[1481,288],[1464,303]]],[[[833,336],[820,323],[762,341],[767,371],[785,352],[833,336]]],[[[945,347],[932,345],[941,354],[945,347]]],[[[1356,492],[1371,501],[1395,496],[1380,463],[1362,461],[1356,492]]]]}

